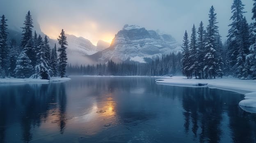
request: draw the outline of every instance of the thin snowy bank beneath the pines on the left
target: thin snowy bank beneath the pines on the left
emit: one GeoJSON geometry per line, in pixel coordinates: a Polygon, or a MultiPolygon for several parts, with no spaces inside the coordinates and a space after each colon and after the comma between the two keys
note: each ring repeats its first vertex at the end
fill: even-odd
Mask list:
{"type": "Polygon", "coordinates": [[[55,81],[67,81],[71,80],[71,78],[58,78],[58,77],[52,77],[50,80],[46,79],[33,79],[33,78],[1,78],[1,83],[49,83],[49,82],[55,82],[55,81]]]}

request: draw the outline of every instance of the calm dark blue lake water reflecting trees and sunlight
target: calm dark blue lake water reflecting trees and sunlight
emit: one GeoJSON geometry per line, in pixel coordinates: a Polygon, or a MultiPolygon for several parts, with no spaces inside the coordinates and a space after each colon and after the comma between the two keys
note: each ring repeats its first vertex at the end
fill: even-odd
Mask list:
{"type": "Polygon", "coordinates": [[[154,80],[2,84],[0,143],[256,143],[242,94],[154,80]]]}

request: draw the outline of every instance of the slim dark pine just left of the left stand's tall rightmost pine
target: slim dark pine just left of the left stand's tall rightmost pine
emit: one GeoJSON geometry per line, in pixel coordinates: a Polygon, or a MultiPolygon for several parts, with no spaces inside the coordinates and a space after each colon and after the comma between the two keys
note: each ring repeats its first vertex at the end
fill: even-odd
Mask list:
{"type": "Polygon", "coordinates": [[[52,76],[58,76],[58,57],[57,57],[57,48],[56,48],[56,43],[54,48],[52,49],[52,54],[50,57],[50,67],[53,71],[52,76]]]}

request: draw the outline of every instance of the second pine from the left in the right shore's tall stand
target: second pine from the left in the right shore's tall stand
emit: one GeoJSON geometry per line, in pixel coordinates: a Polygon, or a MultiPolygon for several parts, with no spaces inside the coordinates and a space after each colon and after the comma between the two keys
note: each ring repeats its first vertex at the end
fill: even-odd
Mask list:
{"type": "Polygon", "coordinates": [[[192,77],[192,73],[194,72],[195,77],[197,79],[197,75],[198,75],[198,61],[197,61],[197,57],[198,57],[198,49],[197,49],[197,30],[196,27],[193,25],[192,27],[192,33],[191,33],[191,38],[190,38],[190,45],[189,45],[189,59],[188,59],[188,64],[190,66],[189,71],[191,72],[191,77],[192,77]]]}

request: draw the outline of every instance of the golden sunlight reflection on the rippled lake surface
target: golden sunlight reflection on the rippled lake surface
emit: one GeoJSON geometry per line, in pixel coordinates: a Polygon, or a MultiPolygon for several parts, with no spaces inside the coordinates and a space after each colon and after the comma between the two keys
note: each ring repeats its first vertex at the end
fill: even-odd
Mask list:
{"type": "MultiPolygon", "coordinates": [[[[85,109],[84,114],[80,116],[70,116],[63,119],[66,122],[65,130],[74,130],[80,132],[84,135],[94,135],[101,130],[110,128],[117,124],[118,118],[116,116],[116,103],[112,98],[112,94],[108,94],[98,99],[94,100],[93,104],[89,109],[85,109]]],[[[68,108],[68,107],[67,107],[68,108]]],[[[48,112],[47,121],[43,128],[48,130],[57,130],[56,125],[59,124],[59,109],[55,108],[55,111],[51,110],[48,112]]],[[[73,111],[73,109],[67,109],[73,111]]],[[[73,111],[75,112],[75,111],[73,111]]]]}

